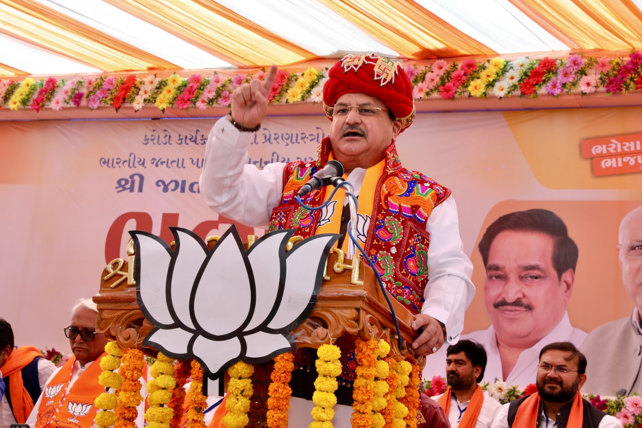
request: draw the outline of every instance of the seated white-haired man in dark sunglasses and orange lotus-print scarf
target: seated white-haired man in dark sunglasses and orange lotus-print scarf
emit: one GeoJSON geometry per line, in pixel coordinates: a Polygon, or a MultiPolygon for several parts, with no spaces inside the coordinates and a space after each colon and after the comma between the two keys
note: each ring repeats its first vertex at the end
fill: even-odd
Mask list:
{"type": "MultiPolygon", "coordinates": [[[[38,402],[27,420],[32,428],[56,426],[94,426],[94,418],[100,409],[94,400],[105,387],[98,383],[102,373],[100,359],[105,353],[108,340],[96,334],[98,308],[92,299],[80,299],[71,310],[71,323],[64,329],[74,354],[64,366],[54,371],[47,381],[38,402]]],[[[143,379],[141,379],[143,385],[143,379]]],[[[145,387],[141,391],[144,397],[145,387]]],[[[136,424],[143,426],[144,400],[138,407],[136,424]]]]}

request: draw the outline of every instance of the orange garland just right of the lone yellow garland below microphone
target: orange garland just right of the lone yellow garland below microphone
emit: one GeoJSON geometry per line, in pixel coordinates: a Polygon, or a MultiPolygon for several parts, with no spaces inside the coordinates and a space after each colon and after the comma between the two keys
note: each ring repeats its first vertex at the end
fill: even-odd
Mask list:
{"type": "Polygon", "coordinates": [[[377,351],[379,344],[375,340],[354,343],[357,361],[356,379],[352,391],[352,427],[372,428],[372,399],[374,398],[374,377],[376,375],[377,351]]]}

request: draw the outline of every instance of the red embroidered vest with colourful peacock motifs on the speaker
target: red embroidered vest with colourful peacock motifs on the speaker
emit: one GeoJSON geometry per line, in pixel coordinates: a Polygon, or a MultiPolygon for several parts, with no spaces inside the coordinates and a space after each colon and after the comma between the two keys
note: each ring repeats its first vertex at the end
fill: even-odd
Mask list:
{"type": "MultiPolygon", "coordinates": [[[[316,162],[295,161],[286,165],[281,202],[272,210],[270,231],[295,229],[294,235],[302,238],[315,234],[319,211],[306,210],[294,196],[311,175],[325,165],[329,152],[329,138],[325,138],[316,162]]],[[[363,226],[363,231],[367,231],[364,249],[370,254],[390,295],[417,314],[424,303],[429,274],[430,236],[426,232],[426,220],[451,191],[426,175],[403,168],[394,143],[386,150],[385,161],[372,213],[358,228],[363,226]]],[[[304,203],[313,208],[320,206],[326,190],[321,188],[308,193],[303,198],[304,203]]]]}

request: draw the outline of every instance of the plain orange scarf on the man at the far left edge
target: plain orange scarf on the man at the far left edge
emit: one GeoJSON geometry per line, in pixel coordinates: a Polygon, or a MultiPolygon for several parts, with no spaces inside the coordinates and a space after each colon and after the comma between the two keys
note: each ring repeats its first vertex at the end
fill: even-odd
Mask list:
{"type": "Polygon", "coordinates": [[[9,354],[4,366],[0,368],[3,377],[9,377],[8,386],[11,406],[13,407],[13,417],[18,424],[24,424],[31,413],[31,409],[33,409],[31,396],[22,383],[21,371],[33,359],[43,356],[42,352],[35,346],[20,346],[9,354]]]}

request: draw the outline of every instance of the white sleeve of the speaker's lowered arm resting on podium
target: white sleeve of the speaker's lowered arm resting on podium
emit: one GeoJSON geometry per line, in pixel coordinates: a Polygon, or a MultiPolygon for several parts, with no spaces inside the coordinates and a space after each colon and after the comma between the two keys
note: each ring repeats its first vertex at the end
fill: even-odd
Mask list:
{"type": "Polygon", "coordinates": [[[430,234],[428,284],[421,312],[446,325],[447,343],[456,343],[464,328],[464,311],[475,295],[473,263],[464,254],[453,197],[439,204],[426,222],[430,234]]]}

